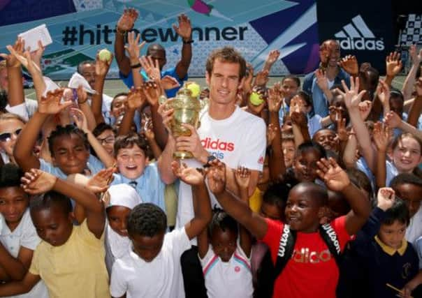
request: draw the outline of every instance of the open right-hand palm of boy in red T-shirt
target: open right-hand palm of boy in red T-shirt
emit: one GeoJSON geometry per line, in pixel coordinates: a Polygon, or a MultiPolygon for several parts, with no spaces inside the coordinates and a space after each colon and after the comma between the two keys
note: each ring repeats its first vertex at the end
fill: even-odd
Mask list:
{"type": "Polygon", "coordinates": [[[334,158],[330,157],[328,160],[321,158],[316,165],[319,168],[316,170],[316,174],[331,191],[342,191],[350,184],[349,176],[340,165],[337,165],[334,158]]]}

